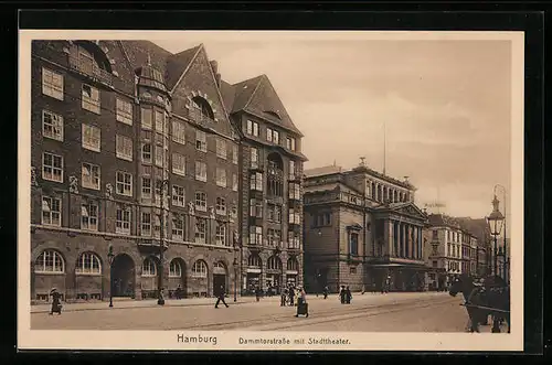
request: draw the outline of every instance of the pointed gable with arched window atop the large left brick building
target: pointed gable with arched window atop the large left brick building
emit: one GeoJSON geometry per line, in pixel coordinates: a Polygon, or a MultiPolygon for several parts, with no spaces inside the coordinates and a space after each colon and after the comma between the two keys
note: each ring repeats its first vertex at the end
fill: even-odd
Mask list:
{"type": "Polygon", "coordinates": [[[225,136],[231,136],[233,127],[227,118],[224,101],[216,85],[215,75],[202,44],[173,87],[172,112],[197,121],[192,114],[192,99],[194,98],[199,98],[202,103],[209,105],[213,114],[213,120],[202,124],[203,127],[211,128],[225,136]]]}

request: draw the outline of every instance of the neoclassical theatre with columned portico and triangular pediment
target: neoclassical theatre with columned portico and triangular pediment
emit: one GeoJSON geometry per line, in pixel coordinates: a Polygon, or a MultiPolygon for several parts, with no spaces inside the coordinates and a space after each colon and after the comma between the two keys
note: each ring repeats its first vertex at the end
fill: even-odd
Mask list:
{"type": "Polygon", "coordinates": [[[369,169],[305,171],[305,282],[392,291],[426,290],[422,230],[426,215],[415,187],[369,169]]]}

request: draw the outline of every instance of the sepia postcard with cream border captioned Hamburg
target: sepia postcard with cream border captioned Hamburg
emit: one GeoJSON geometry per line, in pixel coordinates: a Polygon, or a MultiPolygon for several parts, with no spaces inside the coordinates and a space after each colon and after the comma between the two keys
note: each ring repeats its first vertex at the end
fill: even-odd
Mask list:
{"type": "Polygon", "coordinates": [[[20,31],[20,346],[522,350],[523,41],[20,31]]]}

